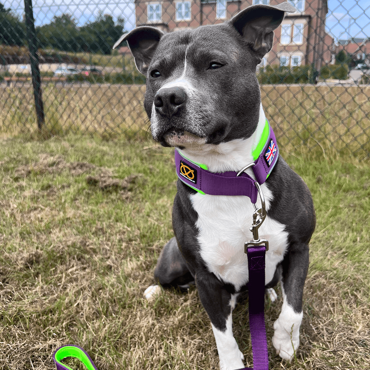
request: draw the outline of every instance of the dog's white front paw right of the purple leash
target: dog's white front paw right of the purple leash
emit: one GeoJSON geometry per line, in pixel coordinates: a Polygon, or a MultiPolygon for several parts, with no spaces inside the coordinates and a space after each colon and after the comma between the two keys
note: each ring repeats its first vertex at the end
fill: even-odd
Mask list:
{"type": "Polygon", "coordinates": [[[299,327],[302,316],[303,312],[294,313],[290,317],[280,314],[274,323],[275,333],[272,337],[272,344],[276,353],[284,360],[291,361],[299,347],[299,327]]]}

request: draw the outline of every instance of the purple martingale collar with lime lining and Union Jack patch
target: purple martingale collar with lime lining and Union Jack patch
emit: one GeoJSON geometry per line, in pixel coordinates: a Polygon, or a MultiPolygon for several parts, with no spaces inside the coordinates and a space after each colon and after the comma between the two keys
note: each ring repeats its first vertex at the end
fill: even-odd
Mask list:
{"type": "MultiPolygon", "coordinates": [[[[257,145],[258,153],[254,155],[253,152],[255,161],[252,170],[259,184],[266,181],[279,156],[275,134],[267,120],[263,131],[262,144],[260,141],[257,145]]],[[[201,194],[245,195],[249,196],[252,203],[257,201],[256,181],[245,172],[239,176],[235,171],[210,172],[205,165],[183,157],[178,149],[175,149],[175,164],[178,178],[201,194]]]]}

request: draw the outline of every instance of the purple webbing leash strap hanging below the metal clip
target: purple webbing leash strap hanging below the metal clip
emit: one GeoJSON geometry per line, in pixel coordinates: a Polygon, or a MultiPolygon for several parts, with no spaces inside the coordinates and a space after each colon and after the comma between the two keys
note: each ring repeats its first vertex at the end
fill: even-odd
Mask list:
{"type": "Polygon", "coordinates": [[[248,248],[249,270],[249,327],[252,339],[253,368],[242,370],[268,370],[269,356],[265,326],[265,253],[266,247],[248,248]]]}

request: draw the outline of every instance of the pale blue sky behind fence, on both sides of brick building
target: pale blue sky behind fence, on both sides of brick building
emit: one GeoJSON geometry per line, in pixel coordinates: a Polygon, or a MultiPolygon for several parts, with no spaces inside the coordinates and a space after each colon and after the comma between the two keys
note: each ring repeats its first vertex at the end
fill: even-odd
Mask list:
{"type": "MultiPolygon", "coordinates": [[[[11,8],[23,16],[23,0],[0,0],[6,8],[11,8]]],[[[135,28],[134,0],[32,0],[36,26],[50,23],[55,15],[72,14],[77,24],[82,26],[99,15],[111,14],[116,21],[124,17],[125,30],[135,28]]],[[[351,37],[370,37],[370,0],[328,0],[326,31],[334,40],[347,40],[351,37]]]]}

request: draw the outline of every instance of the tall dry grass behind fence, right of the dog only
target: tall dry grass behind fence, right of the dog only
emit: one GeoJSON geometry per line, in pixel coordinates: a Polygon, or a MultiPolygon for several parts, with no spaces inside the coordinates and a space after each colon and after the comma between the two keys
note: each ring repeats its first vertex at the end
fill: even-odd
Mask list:
{"type": "MultiPolygon", "coordinates": [[[[266,117],[286,150],[320,147],[368,157],[370,87],[262,85],[266,117]]],[[[326,153],[328,152],[328,153],[326,153]]]]}

